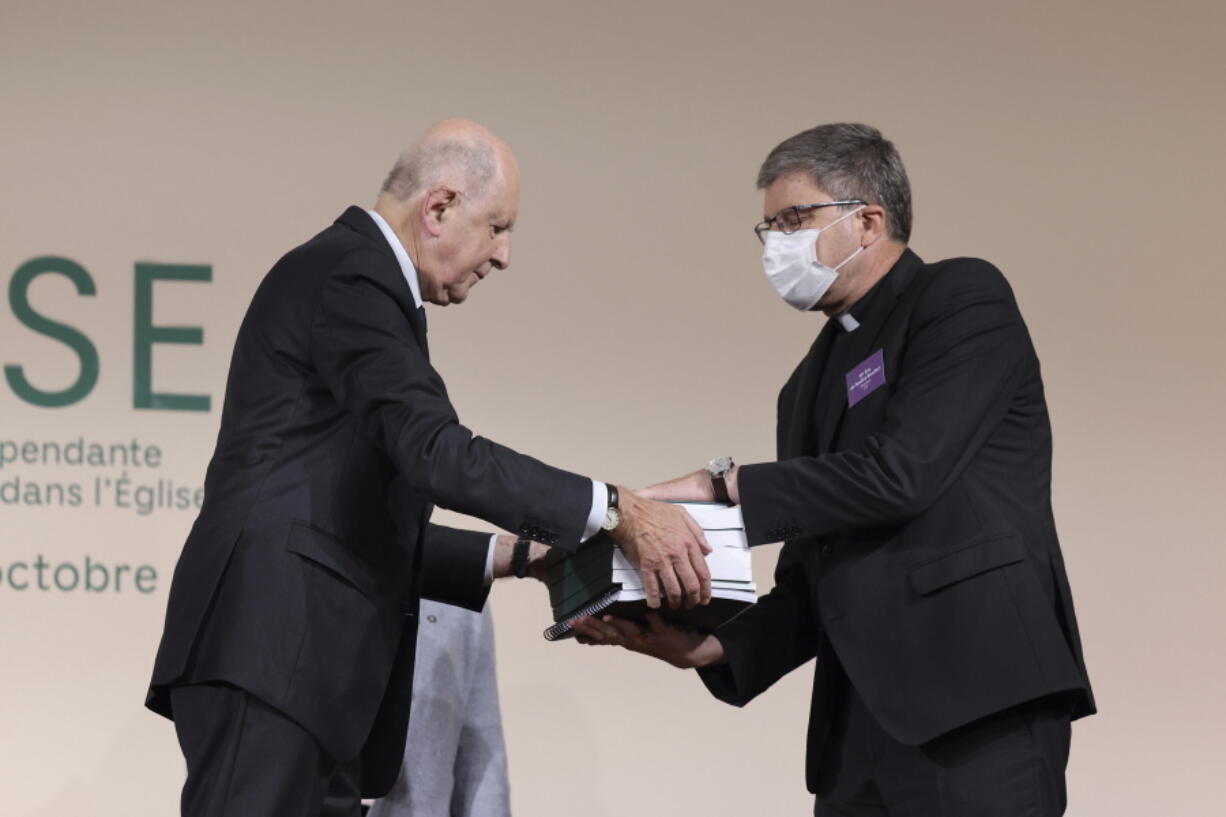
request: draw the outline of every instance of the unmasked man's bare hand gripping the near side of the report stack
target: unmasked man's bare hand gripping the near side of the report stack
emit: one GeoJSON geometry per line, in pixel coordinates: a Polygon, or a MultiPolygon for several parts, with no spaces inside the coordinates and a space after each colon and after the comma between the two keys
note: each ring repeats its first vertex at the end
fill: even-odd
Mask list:
{"type": "Polygon", "coordinates": [[[644,499],[628,488],[618,488],[618,494],[622,521],[609,535],[639,568],[647,606],[660,607],[661,591],[674,610],[709,602],[711,546],[702,527],[684,508],[644,499]]]}

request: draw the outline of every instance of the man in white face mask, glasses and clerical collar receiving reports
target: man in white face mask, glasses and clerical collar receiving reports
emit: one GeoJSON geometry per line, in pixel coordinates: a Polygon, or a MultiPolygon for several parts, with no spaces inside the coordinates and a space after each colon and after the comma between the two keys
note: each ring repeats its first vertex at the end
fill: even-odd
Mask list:
{"type": "Polygon", "coordinates": [[[739,503],[782,540],[776,585],[702,635],[584,619],[592,643],[699,670],[743,705],[817,658],[817,815],[1060,815],[1072,719],[1095,712],[1051,509],[1038,359],[1009,285],[907,248],[894,145],[834,124],[763,163],[766,277],[831,320],[779,396],[775,462],[653,486],[739,503]]]}

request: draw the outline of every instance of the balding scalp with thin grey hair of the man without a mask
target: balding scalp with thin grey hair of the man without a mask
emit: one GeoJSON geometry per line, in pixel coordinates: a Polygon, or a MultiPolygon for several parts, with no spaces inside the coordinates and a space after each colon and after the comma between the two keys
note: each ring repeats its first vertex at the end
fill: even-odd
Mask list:
{"type": "Polygon", "coordinates": [[[499,175],[519,175],[506,142],[474,121],[445,119],[400,155],[380,193],[408,202],[445,185],[479,201],[499,175]]]}

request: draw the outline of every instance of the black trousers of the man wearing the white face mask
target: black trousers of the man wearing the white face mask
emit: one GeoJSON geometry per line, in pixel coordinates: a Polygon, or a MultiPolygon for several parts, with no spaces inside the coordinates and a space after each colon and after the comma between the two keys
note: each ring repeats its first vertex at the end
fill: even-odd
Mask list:
{"type": "Polygon", "coordinates": [[[1014,707],[922,746],[890,737],[848,689],[823,752],[819,817],[1057,817],[1064,813],[1069,710],[1014,707]],[[828,788],[829,786],[829,788],[828,788]]]}

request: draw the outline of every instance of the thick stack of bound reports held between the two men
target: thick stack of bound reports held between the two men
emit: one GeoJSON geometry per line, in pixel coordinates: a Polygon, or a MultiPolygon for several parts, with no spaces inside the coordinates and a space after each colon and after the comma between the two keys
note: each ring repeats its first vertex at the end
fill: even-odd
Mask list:
{"type": "MultiPolygon", "coordinates": [[[[714,502],[679,504],[702,526],[712,548],[706,557],[711,570],[711,604],[690,610],[671,610],[666,604],[657,612],[666,621],[711,632],[758,601],[745,525],[737,507],[714,502]]],[[[573,554],[550,551],[546,564],[549,604],[557,622],[544,631],[546,640],[574,635],[570,621],[581,616],[645,618],[647,596],[642,577],[608,535],[597,534],[573,554]]]]}

